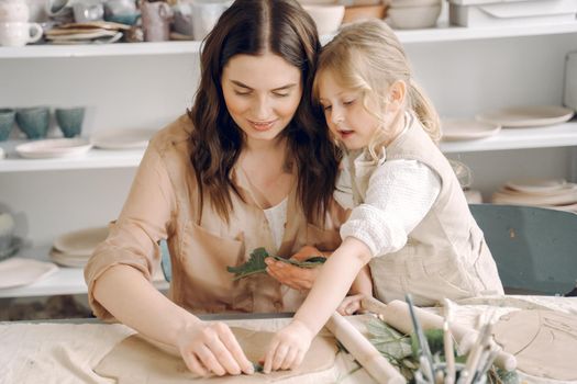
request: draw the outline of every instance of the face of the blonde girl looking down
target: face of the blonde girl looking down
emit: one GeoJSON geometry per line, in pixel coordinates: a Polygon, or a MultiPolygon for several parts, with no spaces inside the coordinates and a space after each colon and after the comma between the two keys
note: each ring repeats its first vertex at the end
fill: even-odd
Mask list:
{"type": "MultiPolygon", "coordinates": [[[[363,106],[360,91],[341,87],[330,70],[319,76],[319,101],[331,133],[349,150],[368,146],[379,121],[363,106]]],[[[377,111],[373,104],[369,100],[367,108],[377,111]]]]}

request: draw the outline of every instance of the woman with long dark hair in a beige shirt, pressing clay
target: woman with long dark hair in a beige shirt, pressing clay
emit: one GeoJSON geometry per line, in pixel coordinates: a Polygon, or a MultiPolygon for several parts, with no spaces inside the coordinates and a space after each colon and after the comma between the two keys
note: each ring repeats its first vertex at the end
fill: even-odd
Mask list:
{"type": "Polygon", "coordinates": [[[233,281],[226,267],[257,247],[288,258],[340,244],[337,151],[310,95],[319,49],[293,0],[237,0],[223,13],[200,55],[192,109],[153,138],[86,268],[97,316],[176,347],[196,373],[253,372],[229,327],[190,312],[295,310],[300,291],[266,274],[233,281]],[[170,300],[149,282],[160,239],[170,300]]]}

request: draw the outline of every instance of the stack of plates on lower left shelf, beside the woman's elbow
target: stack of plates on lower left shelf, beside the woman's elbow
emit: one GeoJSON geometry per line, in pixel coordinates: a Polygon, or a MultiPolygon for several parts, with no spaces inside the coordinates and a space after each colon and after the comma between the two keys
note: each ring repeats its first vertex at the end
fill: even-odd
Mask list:
{"type": "Polygon", "coordinates": [[[87,228],[59,236],[53,242],[51,259],[65,267],[85,267],[95,248],[107,236],[107,227],[87,228]]]}

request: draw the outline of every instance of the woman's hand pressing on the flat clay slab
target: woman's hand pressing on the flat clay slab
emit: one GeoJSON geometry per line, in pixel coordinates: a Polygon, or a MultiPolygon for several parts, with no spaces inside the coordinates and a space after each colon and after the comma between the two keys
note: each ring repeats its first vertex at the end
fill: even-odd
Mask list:
{"type": "Polygon", "coordinates": [[[224,323],[197,321],[187,326],[177,348],[188,369],[202,376],[254,373],[253,363],[224,323]]]}

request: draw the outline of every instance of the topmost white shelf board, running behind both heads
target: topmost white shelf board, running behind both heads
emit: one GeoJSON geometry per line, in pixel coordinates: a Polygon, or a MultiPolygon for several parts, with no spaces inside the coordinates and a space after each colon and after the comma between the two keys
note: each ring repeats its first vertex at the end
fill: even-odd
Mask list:
{"type": "MultiPolygon", "coordinates": [[[[517,37],[577,33],[577,22],[554,25],[465,27],[439,25],[426,30],[397,30],[402,43],[456,42],[480,38],[517,37]]],[[[323,43],[333,35],[321,37],[323,43]]],[[[116,43],[92,45],[29,45],[0,47],[1,58],[67,58],[95,56],[143,56],[197,54],[200,42],[116,43]]]]}

